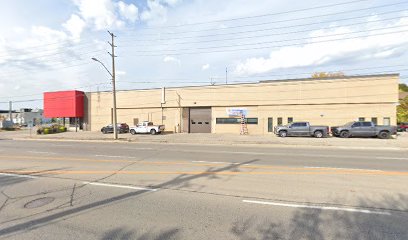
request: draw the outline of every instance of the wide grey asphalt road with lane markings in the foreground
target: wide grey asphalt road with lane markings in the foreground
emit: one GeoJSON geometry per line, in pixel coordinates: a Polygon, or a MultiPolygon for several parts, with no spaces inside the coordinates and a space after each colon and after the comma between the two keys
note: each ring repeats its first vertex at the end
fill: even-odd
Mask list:
{"type": "Polygon", "coordinates": [[[408,239],[408,152],[0,141],[0,239],[408,239]]]}

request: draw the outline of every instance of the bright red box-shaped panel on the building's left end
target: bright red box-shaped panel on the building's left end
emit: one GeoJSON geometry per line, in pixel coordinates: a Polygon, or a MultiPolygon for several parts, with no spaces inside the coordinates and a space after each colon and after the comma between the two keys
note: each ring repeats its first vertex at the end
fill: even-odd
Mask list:
{"type": "Polygon", "coordinates": [[[44,116],[46,118],[83,117],[84,92],[61,91],[44,93],[44,116]]]}

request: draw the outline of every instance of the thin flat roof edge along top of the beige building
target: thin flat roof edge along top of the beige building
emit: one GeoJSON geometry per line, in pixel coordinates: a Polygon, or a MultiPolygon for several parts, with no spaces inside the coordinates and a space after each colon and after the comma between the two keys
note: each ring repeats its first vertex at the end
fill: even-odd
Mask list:
{"type": "MultiPolygon", "coordinates": [[[[391,74],[374,74],[374,75],[350,75],[350,76],[335,76],[335,77],[324,77],[324,78],[292,78],[292,79],[275,79],[275,80],[261,80],[257,82],[241,82],[241,83],[230,83],[230,84],[206,84],[206,85],[194,85],[194,86],[180,86],[180,87],[165,87],[166,89],[179,89],[179,88],[198,88],[198,87],[220,87],[220,86],[237,86],[237,85],[253,85],[261,83],[282,83],[282,82],[302,82],[302,81],[327,81],[327,80],[344,80],[352,78],[375,78],[375,77],[399,77],[399,73],[391,74]]],[[[125,89],[125,90],[116,90],[116,92],[128,92],[128,91],[149,91],[149,90],[159,90],[162,87],[157,88],[136,88],[136,89],[125,89]]],[[[99,91],[99,92],[112,92],[109,91],[99,91]]],[[[87,92],[87,93],[97,93],[97,92],[87,92]]]]}

